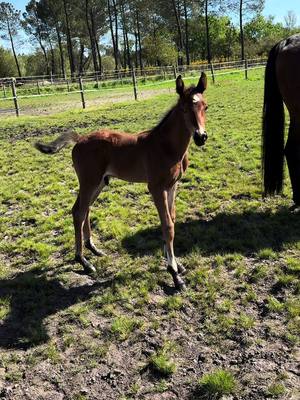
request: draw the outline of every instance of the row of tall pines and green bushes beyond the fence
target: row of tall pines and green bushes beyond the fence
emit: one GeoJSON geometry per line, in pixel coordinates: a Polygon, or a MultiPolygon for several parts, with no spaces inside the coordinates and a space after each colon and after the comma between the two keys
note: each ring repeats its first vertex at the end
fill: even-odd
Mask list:
{"type": "Polygon", "coordinates": [[[267,53],[299,29],[262,16],[264,0],[30,0],[0,3],[0,76],[143,69],[267,53]],[[20,30],[35,47],[21,55],[20,30]]]}

